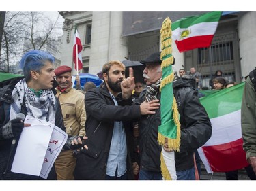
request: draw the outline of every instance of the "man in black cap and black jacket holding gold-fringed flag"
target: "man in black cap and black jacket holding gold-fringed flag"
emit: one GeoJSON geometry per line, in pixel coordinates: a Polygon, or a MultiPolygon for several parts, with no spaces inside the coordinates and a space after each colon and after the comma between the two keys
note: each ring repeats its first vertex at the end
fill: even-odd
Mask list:
{"type": "MultiPolygon", "coordinates": [[[[143,77],[147,90],[141,92],[139,99],[134,103],[139,104],[145,99],[160,101],[160,83],[162,70],[160,59],[161,52],[151,54],[141,63],[145,65],[143,77]]],[[[177,180],[195,179],[193,155],[212,135],[212,126],[208,114],[197,97],[195,79],[184,75],[173,82],[173,92],[180,113],[181,143],[180,152],[175,152],[175,167],[177,180]]],[[[162,179],[160,169],[160,152],[162,147],[158,144],[158,126],[161,124],[160,108],[156,114],[141,116],[139,120],[139,151],[140,151],[140,180],[162,179]]],[[[165,151],[171,152],[167,147],[165,151]]]]}

